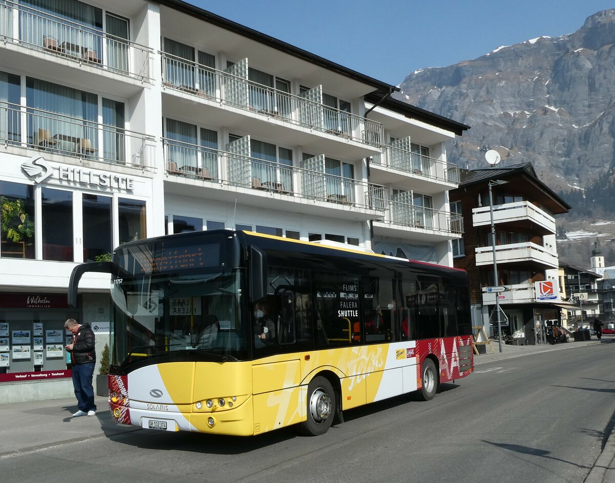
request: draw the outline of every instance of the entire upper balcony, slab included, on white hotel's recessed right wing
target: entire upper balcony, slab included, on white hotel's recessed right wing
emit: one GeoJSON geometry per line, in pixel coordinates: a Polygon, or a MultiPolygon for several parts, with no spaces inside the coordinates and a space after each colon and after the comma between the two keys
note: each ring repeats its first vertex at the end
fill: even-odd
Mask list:
{"type": "Polygon", "coordinates": [[[386,146],[370,157],[370,179],[381,185],[393,183],[403,190],[432,194],[459,186],[459,167],[419,153],[386,146]]]}

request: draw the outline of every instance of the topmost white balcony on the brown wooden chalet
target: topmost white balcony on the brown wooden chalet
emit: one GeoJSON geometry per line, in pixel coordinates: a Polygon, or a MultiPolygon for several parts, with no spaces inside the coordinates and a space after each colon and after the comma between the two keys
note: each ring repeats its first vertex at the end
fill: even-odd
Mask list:
{"type": "MultiPolygon", "coordinates": [[[[529,201],[506,203],[493,207],[493,223],[524,223],[531,222],[532,230],[538,234],[554,234],[555,219],[552,215],[529,201]]],[[[472,225],[491,225],[490,207],[483,206],[472,209],[472,225]]]]}

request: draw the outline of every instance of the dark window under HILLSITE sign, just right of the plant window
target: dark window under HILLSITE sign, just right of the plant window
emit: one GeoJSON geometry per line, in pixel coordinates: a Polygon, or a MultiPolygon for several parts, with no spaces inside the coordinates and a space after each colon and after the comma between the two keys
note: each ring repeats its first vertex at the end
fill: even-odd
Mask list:
{"type": "Polygon", "coordinates": [[[42,188],[42,258],[73,261],[73,193],[42,188]]]}

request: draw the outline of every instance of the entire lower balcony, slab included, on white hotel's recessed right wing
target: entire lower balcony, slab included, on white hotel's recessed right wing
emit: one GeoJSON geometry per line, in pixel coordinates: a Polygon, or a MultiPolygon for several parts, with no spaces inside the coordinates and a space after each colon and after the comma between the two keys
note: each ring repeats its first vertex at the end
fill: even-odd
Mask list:
{"type": "Polygon", "coordinates": [[[374,220],[375,235],[412,238],[424,241],[443,241],[461,238],[463,218],[459,214],[386,201],[387,214],[383,220],[374,220]]]}

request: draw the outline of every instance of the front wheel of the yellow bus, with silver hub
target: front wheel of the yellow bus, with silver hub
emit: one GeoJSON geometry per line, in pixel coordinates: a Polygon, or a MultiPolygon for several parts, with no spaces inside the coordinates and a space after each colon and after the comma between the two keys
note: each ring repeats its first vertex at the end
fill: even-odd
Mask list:
{"type": "Polygon", "coordinates": [[[300,429],[308,436],[327,433],[335,417],[335,392],[326,377],[318,376],[308,385],[308,419],[300,429]]]}

